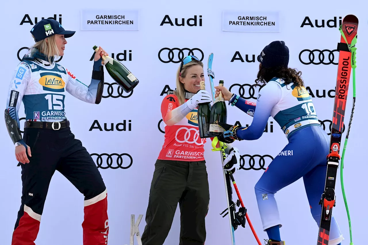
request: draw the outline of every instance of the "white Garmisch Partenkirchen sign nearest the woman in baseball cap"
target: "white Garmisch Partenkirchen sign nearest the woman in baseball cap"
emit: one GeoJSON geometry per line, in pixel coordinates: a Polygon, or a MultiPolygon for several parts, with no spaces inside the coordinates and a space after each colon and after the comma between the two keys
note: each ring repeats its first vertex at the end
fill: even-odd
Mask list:
{"type": "Polygon", "coordinates": [[[81,30],[138,31],[139,10],[82,10],[81,30]]]}

